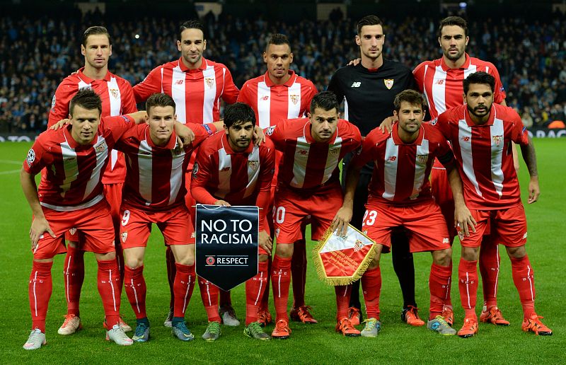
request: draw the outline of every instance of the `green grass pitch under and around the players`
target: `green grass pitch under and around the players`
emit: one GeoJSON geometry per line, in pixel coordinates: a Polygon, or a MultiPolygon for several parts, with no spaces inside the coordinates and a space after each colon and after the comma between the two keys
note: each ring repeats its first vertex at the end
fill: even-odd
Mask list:
{"type": "MultiPolygon", "coordinates": [[[[306,301],[313,307],[318,325],[291,323],[293,333],[289,340],[259,342],[244,337],[243,326],[223,327],[222,336],[213,343],[201,340],[207,318],[197,288],[187,310],[187,322],[195,333],[195,341],[180,342],[171,337],[163,319],[168,311],[169,289],[166,284],[166,267],[163,238],[154,229],[145,264],[148,287],[147,311],[151,321],[151,341],[118,347],[104,340],[102,328],[103,308],[96,290],[96,263],[92,254],[86,255],[86,279],[81,297],[81,319],[84,328],[75,335],[57,335],[65,311],[62,265],[64,257],[56,257],[53,265],[53,294],[47,313],[47,345],[27,352],[22,345],[30,330],[28,278],[32,255],[28,231],[30,209],[25,202],[18,179],[21,161],[30,147],[25,143],[0,144],[0,363],[1,364],[154,364],[163,363],[218,363],[218,364],[377,364],[377,363],[543,363],[566,362],[566,323],[561,309],[566,287],[564,267],[566,259],[564,236],[566,190],[566,140],[536,139],[541,197],[536,204],[526,207],[529,222],[527,252],[536,278],[536,309],[544,315],[544,323],[553,329],[552,337],[536,337],[521,331],[521,306],[512,282],[509,259],[502,248],[502,270],[499,278],[499,308],[510,327],[480,324],[480,332],[470,339],[456,336],[443,337],[426,328],[410,328],[400,320],[401,295],[391,266],[391,255],[383,255],[381,272],[381,322],[379,337],[345,338],[334,332],[334,290],[318,281],[313,265],[308,266],[306,301]]],[[[526,197],[528,174],[524,164],[520,171],[521,187],[526,197]]],[[[313,247],[307,243],[309,252],[313,247]]],[[[457,267],[460,249],[454,245],[453,260],[457,267]]],[[[310,259],[309,259],[310,260],[310,259]]],[[[417,302],[422,317],[428,315],[428,272],[432,259],[429,254],[415,255],[417,302]]],[[[462,324],[463,310],[459,305],[457,270],[453,273],[454,302],[458,329],[462,324]]],[[[243,286],[233,290],[236,313],[243,319],[245,297],[243,286]]],[[[481,287],[478,295],[481,303],[481,287]]],[[[289,303],[290,305],[290,303],[289,303]]],[[[480,308],[478,308],[480,311],[480,308]]],[[[125,320],[135,325],[132,309],[125,294],[122,295],[122,313],[125,320]]],[[[272,308],[272,313],[275,314],[272,308]]],[[[272,325],[267,331],[272,330],[272,325]]]]}

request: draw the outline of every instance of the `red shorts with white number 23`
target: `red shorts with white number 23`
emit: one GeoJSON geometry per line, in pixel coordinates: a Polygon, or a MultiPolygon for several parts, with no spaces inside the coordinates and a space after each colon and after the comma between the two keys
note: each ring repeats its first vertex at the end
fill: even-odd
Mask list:
{"type": "Polygon", "coordinates": [[[450,248],[446,221],[434,201],[395,206],[376,202],[371,197],[366,204],[362,231],[372,240],[391,248],[391,231],[403,226],[408,232],[410,252],[437,251],[450,248]]]}

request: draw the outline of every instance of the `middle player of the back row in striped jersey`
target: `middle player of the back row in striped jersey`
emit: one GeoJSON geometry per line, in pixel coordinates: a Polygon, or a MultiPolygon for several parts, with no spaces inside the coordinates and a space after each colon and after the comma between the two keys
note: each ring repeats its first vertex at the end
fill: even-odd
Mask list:
{"type": "MultiPolygon", "coordinates": [[[[289,69],[293,63],[291,44],[286,35],[274,34],[267,42],[263,53],[263,61],[267,64],[267,72],[243,84],[238,101],[250,105],[255,112],[255,120],[262,128],[277,125],[280,120],[304,117],[309,111],[311,99],[316,94],[316,87],[311,81],[296,75],[289,69]]],[[[275,178],[271,185],[271,199],[273,202],[277,188],[277,172],[282,153],[277,151],[275,161],[275,178]]],[[[272,220],[270,219],[270,224],[272,220]]],[[[305,224],[301,226],[304,236],[305,224]]],[[[295,243],[293,258],[291,260],[291,275],[293,277],[293,309],[291,318],[301,320],[303,323],[316,323],[308,306],[305,305],[306,284],[306,243],[304,238],[295,243]]],[[[271,256],[269,257],[271,266],[271,256]]],[[[267,287],[260,304],[258,321],[262,325],[271,323],[269,312],[269,277],[267,287]]]]}

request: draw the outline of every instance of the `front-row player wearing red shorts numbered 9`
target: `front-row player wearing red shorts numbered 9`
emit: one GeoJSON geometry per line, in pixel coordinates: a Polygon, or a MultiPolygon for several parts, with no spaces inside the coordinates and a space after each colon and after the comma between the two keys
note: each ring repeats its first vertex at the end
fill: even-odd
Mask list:
{"type": "Polygon", "coordinates": [[[124,286],[137,318],[132,340],[149,340],[144,255],[151,224],[156,224],[165,244],[173,251],[177,268],[171,332],[179,340],[190,341],[194,335],[185,324],[185,310],[195,287],[195,238],[191,237],[192,219],[185,207],[184,172],[192,151],[222,122],[187,123],[195,139],[181,147],[174,129],[186,131],[187,127],[175,122],[173,98],[163,93],[153,94],[146,100],[146,111],[147,124],[125,133],[115,146],[125,153],[127,162],[120,240],[126,264],[124,286]]]}

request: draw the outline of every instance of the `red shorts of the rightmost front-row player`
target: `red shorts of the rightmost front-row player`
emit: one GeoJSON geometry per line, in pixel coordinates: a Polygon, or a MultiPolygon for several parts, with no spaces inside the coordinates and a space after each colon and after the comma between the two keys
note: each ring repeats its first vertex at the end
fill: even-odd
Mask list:
{"type": "Polygon", "coordinates": [[[507,247],[519,247],[526,243],[526,216],[523,204],[499,210],[470,209],[475,219],[475,233],[460,237],[464,247],[480,247],[486,229],[490,229],[490,241],[507,247]]]}

